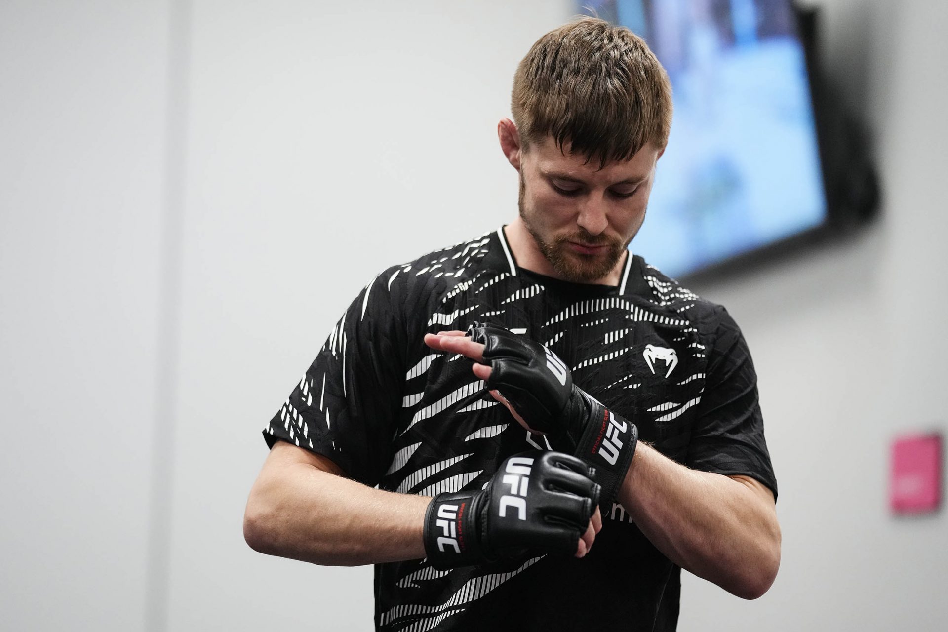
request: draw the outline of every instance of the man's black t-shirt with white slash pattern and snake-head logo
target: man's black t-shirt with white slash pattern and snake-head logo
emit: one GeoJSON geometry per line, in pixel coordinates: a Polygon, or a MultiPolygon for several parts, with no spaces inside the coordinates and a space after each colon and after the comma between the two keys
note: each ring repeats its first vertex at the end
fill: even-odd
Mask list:
{"type": "MultiPolygon", "coordinates": [[[[492,322],[548,346],[574,382],[670,459],[746,475],[776,495],[757,375],[737,324],[629,254],[619,286],[518,267],[502,228],[375,277],[338,321],[264,429],[380,489],[435,496],[481,489],[531,436],[463,356],[424,334],[492,322]]],[[[443,571],[375,565],[379,630],[673,630],[680,571],[621,505],[586,557],[543,555],[443,571]],[[516,627],[515,627],[516,626],[516,627]]]]}

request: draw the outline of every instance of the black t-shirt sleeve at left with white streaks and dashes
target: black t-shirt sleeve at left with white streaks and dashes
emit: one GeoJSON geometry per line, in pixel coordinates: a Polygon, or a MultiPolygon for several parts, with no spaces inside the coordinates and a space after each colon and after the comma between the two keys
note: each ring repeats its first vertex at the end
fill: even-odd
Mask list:
{"type": "Polygon", "coordinates": [[[333,460],[374,486],[392,460],[392,436],[405,380],[405,327],[390,289],[394,269],[378,275],[339,318],[316,359],[264,428],[333,460]]]}

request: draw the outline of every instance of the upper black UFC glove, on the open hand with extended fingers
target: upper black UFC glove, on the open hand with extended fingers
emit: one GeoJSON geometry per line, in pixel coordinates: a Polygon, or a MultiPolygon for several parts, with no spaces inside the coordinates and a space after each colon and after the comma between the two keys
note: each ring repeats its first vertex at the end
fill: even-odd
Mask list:
{"type": "Polygon", "coordinates": [[[556,353],[527,336],[478,322],[467,335],[484,345],[483,364],[492,369],[487,388],[499,390],[555,450],[592,465],[593,479],[602,485],[601,506],[611,509],[635,454],[635,424],[575,386],[556,353]]]}

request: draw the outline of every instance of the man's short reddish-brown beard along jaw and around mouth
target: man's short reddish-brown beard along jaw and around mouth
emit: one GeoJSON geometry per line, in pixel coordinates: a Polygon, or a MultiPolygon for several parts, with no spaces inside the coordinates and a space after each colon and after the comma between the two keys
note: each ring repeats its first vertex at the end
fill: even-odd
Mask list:
{"type": "Polygon", "coordinates": [[[520,195],[517,201],[520,220],[537,243],[540,254],[550,262],[556,273],[564,280],[574,283],[593,283],[607,277],[619,262],[622,253],[629,247],[632,238],[629,237],[629,241],[622,244],[604,234],[592,235],[582,227],[566,235],[544,236],[540,234],[537,225],[533,222],[532,213],[528,213],[523,204],[524,190],[523,176],[520,175],[520,195]],[[606,248],[603,252],[584,255],[570,247],[570,242],[605,245],[606,248]]]}

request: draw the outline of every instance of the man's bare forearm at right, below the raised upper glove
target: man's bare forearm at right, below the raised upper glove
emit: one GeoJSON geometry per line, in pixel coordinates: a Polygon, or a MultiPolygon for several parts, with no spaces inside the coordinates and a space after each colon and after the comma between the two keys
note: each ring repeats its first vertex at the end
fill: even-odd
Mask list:
{"type": "Polygon", "coordinates": [[[773,583],[780,560],[775,512],[743,482],[688,469],[640,443],[619,501],[683,569],[745,599],[773,583]]]}

